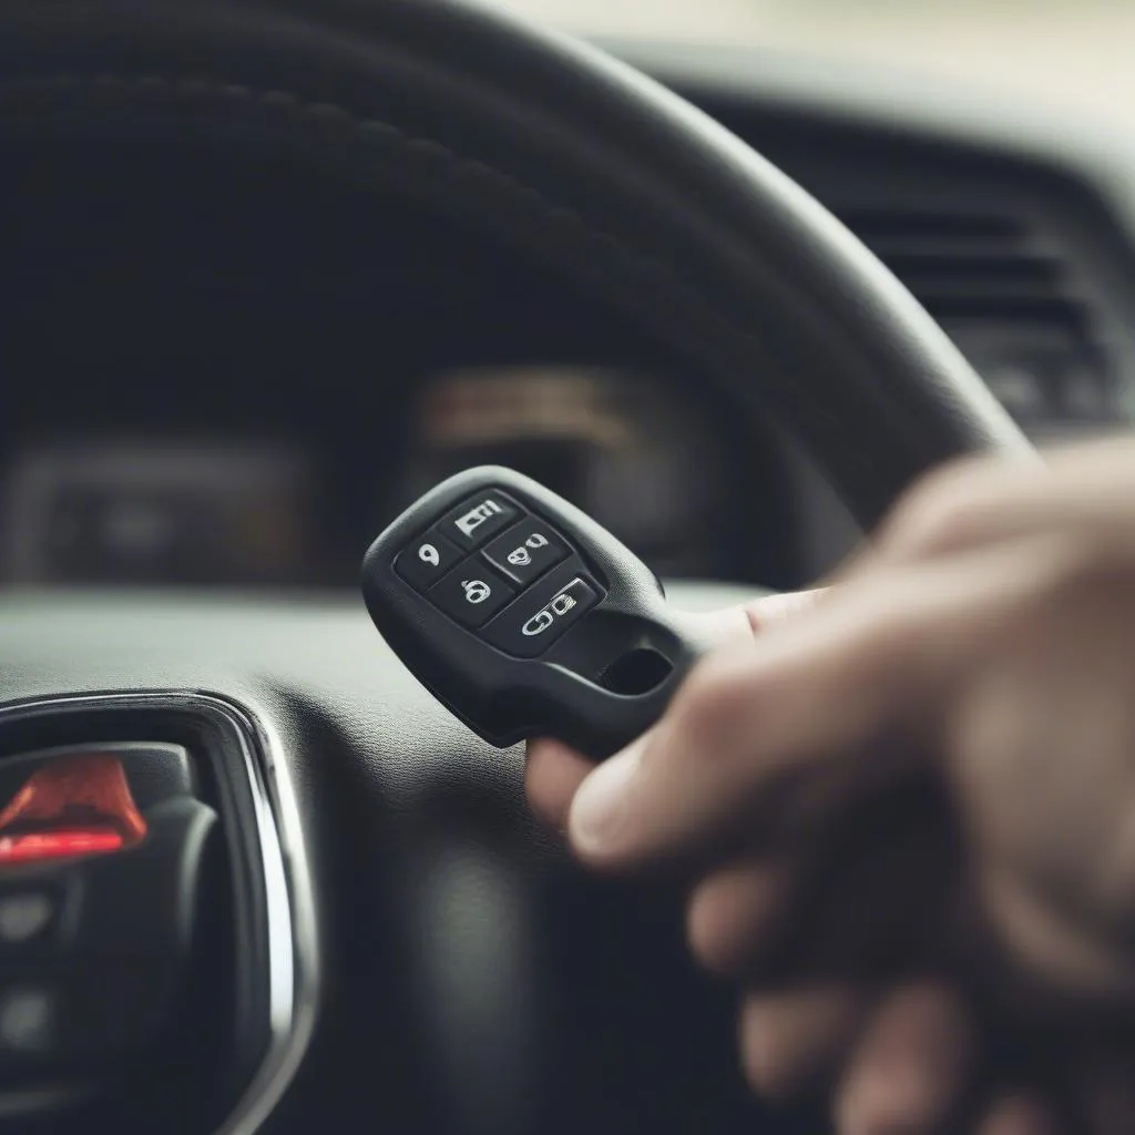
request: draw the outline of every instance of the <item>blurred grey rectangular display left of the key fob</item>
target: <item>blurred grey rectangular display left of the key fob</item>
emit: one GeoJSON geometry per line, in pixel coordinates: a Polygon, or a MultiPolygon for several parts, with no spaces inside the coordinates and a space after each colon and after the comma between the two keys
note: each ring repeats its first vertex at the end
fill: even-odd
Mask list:
{"type": "Polygon", "coordinates": [[[287,448],[89,442],[19,454],[3,575],[37,583],[310,578],[310,469],[287,448]]]}

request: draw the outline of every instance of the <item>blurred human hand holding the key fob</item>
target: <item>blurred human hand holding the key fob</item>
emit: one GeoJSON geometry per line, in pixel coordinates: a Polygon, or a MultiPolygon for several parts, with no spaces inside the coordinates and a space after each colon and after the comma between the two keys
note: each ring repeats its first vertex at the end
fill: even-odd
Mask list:
{"type": "Polygon", "coordinates": [[[1135,1129],[1135,446],[944,470],[830,590],[720,625],[646,737],[536,742],[528,791],[597,871],[693,873],[754,1084],[829,1073],[841,1135],[980,1082],[982,1135],[1061,1130],[1053,1085],[1135,1129]]]}

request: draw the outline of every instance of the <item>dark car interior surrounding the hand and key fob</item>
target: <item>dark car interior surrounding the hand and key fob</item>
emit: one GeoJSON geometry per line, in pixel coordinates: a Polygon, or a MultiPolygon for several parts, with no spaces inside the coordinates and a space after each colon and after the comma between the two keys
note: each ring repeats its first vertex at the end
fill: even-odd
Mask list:
{"type": "Polygon", "coordinates": [[[711,609],[1126,429],[1135,149],[468,0],[10,0],[0,153],[0,1130],[825,1129],[360,562],[496,464],[711,609]]]}

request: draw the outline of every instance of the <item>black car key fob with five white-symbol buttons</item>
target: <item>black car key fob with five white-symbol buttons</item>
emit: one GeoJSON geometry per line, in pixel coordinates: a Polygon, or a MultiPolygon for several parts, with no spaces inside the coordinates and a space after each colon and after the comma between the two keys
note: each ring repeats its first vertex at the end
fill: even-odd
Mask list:
{"type": "Polygon", "coordinates": [[[555,737],[595,758],[654,724],[708,642],[624,545],[510,469],[470,469],[367,553],[387,644],[473,732],[555,737]]]}

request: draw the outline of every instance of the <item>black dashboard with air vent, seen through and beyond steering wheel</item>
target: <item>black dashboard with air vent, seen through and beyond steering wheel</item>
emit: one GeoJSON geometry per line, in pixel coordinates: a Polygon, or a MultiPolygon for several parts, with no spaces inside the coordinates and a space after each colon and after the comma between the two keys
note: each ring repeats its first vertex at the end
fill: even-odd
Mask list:
{"type": "MultiPolygon", "coordinates": [[[[812,190],[1039,442],[1129,427],[1135,177],[1113,146],[831,68],[606,45],[812,190]]],[[[286,169],[175,176],[157,145],[78,176],[28,154],[0,190],[3,583],[353,585],[389,516],[482,462],[659,574],[790,587],[857,537],[773,423],[740,427],[641,329],[460,226],[361,191],[321,209],[286,169]]]]}

